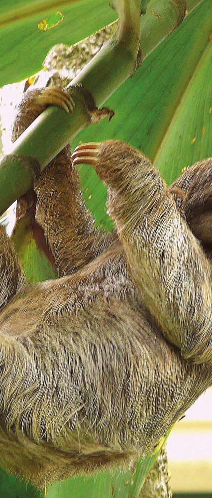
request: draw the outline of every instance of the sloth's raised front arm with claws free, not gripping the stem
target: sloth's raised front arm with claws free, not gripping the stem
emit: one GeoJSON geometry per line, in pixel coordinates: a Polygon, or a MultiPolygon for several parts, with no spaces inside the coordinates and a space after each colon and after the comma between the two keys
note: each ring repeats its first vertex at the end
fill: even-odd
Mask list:
{"type": "Polygon", "coordinates": [[[80,145],[108,186],[108,209],[141,300],[184,358],[212,366],[212,269],[173,195],[141,152],[120,141],[80,145]]]}

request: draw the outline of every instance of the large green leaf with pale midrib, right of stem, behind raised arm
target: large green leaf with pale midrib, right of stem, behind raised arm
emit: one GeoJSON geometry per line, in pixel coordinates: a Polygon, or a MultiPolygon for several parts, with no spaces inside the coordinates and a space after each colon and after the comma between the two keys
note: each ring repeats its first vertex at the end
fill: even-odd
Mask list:
{"type": "MultiPolygon", "coordinates": [[[[107,101],[112,121],[85,129],[73,146],[129,142],[156,162],[169,183],[183,167],[212,155],[211,25],[212,2],[204,0],[107,101]]],[[[81,166],[80,176],[87,207],[109,229],[105,186],[91,166],[81,166]]]]}

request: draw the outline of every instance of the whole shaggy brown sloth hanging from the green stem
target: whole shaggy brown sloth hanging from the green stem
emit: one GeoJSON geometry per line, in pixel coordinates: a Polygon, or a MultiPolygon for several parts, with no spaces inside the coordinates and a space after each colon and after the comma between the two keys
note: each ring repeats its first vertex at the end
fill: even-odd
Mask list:
{"type": "MultiPolygon", "coordinates": [[[[58,98],[28,90],[13,140],[58,98]]],[[[67,145],[34,185],[59,278],[25,282],[0,227],[5,470],[42,488],[129,469],[212,384],[211,180],[212,159],[168,187],[126,143],[67,145]],[[106,183],[111,233],[86,210],[80,163],[106,183]]]]}

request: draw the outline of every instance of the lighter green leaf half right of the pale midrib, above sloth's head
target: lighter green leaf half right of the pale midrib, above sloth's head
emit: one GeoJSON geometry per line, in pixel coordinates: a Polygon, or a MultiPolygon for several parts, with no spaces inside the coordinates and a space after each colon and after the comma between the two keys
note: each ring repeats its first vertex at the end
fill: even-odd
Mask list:
{"type": "Polygon", "coordinates": [[[155,162],[168,183],[182,168],[212,155],[212,42],[209,42],[167,127],[155,162]]]}

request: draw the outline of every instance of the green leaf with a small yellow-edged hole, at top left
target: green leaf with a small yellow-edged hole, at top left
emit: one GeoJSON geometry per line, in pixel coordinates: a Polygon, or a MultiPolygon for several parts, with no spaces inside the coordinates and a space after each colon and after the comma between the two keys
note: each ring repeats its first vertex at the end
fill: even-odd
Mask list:
{"type": "Polygon", "coordinates": [[[0,2],[0,86],[20,81],[42,69],[56,43],[72,45],[117,17],[106,0],[18,0],[0,2]],[[50,30],[43,20],[62,11],[63,20],[50,30]]]}

